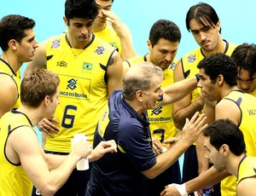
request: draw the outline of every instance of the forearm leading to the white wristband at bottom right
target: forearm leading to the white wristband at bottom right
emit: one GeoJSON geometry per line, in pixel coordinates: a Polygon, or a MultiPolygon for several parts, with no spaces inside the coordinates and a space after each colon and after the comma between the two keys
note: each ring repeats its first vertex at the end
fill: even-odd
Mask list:
{"type": "Polygon", "coordinates": [[[209,170],[202,173],[201,176],[186,182],[186,191],[187,193],[192,193],[205,187],[212,187],[227,176],[230,176],[227,171],[218,172],[218,170],[212,166],[209,170]]]}

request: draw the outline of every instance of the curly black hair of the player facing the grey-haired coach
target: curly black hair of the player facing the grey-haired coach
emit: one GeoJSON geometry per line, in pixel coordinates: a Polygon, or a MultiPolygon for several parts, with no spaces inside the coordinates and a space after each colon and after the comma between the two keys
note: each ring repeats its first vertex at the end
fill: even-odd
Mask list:
{"type": "Polygon", "coordinates": [[[199,62],[197,68],[203,68],[205,73],[210,76],[212,83],[215,83],[218,75],[224,76],[224,81],[230,87],[236,86],[237,68],[232,58],[223,53],[215,53],[205,57],[199,62]]]}

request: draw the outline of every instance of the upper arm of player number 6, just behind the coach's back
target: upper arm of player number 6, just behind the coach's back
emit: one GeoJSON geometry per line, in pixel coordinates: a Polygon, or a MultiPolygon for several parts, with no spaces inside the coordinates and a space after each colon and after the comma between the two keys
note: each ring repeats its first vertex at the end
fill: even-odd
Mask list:
{"type": "Polygon", "coordinates": [[[111,95],[114,89],[122,88],[123,79],[123,61],[119,56],[119,53],[115,51],[111,56],[111,60],[108,64],[108,95],[111,95]]]}

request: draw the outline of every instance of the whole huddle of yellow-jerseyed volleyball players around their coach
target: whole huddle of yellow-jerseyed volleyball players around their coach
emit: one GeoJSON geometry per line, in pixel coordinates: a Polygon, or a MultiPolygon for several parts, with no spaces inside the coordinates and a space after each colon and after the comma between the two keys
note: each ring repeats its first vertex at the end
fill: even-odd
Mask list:
{"type": "Polygon", "coordinates": [[[177,60],[161,19],[137,55],[112,4],[66,0],[67,30],[42,43],[34,20],[0,20],[0,195],[256,195],[256,45],[224,40],[197,3],[197,49],[177,60]]]}

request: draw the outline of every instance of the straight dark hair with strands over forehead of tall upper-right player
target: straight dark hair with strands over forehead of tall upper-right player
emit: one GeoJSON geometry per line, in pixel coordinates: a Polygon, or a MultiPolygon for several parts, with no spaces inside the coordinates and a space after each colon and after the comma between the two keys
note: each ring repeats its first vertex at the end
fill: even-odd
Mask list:
{"type": "MultiPolygon", "coordinates": [[[[195,19],[201,26],[206,26],[204,20],[207,20],[212,28],[215,28],[215,25],[219,20],[215,9],[213,9],[212,6],[207,3],[197,3],[189,9],[186,16],[186,26],[189,32],[189,22],[192,19],[195,19]]],[[[221,33],[221,29],[219,30],[219,33],[221,33]]]]}

